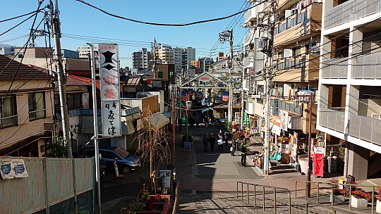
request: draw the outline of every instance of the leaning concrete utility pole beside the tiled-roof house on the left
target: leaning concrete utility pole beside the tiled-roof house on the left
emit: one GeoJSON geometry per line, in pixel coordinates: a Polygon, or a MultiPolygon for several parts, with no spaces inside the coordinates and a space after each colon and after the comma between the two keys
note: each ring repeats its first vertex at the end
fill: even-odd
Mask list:
{"type": "MultiPolygon", "coordinates": [[[[51,1],[52,3],[52,1],[51,1]]],[[[53,10],[53,6],[51,5],[51,10],[53,10]]],[[[63,65],[62,65],[62,53],[61,53],[61,35],[60,35],[60,23],[59,23],[59,10],[58,10],[58,2],[56,1],[56,11],[52,14],[52,31],[54,35],[54,55],[56,56],[56,73],[58,75],[58,83],[59,83],[59,101],[61,104],[61,122],[62,122],[62,132],[63,132],[63,140],[66,142],[68,146],[68,157],[73,158],[73,152],[71,150],[71,141],[70,141],[70,133],[69,133],[69,122],[68,122],[68,105],[66,102],[66,89],[65,83],[63,80],[63,65]]]]}

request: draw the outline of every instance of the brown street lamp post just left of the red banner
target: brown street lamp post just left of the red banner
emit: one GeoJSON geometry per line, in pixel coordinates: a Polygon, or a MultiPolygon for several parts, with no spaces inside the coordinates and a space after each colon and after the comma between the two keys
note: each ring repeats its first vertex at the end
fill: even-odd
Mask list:
{"type": "Polygon", "coordinates": [[[307,197],[309,198],[311,196],[311,184],[310,184],[310,181],[311,181],[311,169],[310,169],[310,163],[311,163],[311,144],[312,144],[312,141],[311,141],[311,125],[312,125],[312,103],[313,103],[313,93],[310,93],[309,95],[297,95],[296,94],[296,99],[294,99],[294,104],[295,106],[299,106],[299,97],[303,97],[303,102],[305,101],[305,97],[307,98],[308,97],[308,101],[306,101],[306,103],[308,103],[309,105],[309,110],[310,110],[310,113],[308,115],[308,167],[307,167],[307,197]]]}

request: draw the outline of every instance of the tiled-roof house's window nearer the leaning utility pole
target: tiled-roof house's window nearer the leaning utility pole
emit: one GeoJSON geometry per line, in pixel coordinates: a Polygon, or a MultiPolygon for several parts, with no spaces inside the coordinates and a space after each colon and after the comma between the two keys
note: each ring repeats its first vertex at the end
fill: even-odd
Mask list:
{"type": "Polygon", "coordinates": [[[43,92],[28,94],[29,120],[45,118],[45,94],[43,92]]]}

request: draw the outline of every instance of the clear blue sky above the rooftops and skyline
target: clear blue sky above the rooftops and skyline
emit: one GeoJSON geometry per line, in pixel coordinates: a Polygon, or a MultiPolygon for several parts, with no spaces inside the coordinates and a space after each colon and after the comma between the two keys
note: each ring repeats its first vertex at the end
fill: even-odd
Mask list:
{"type": "MultiPolygon", "coordinates": [[[[126,18],[152,23],[191,23],[231,15],[240,11],[242,6],[248,8],[246,0],[85,0],[87,3],[102,8],[104,11],[126,18]]],[[[48,1],[44,1],[45,6],[48,1]]],[[[13,0],[2,4],[0,20],[35,11],[37,0],[13,0]]],[[[131,53],[142,48],[150,50],[154,37],[158,43],[172,46],[191,46],[196,49],[196,57],[209,56],[210,50],[218,41],[218,34],[226,27],[234,27],[234,45],[243,42],[246,29],[240,27],[243,14],[236,18],[202,23],[188,27],[162,27],[132,23],[106,15],[95,8],[75,0],[59,0],[61,19],[62,49],[74,50],[86,42],[112,42],[119,44],[121,66],[131,67],[131,53]],[[97,37],[97,38],[95,38],[97,37]]],[[[26,16],[27,17],[27,16],[26,16]]],[[[26,17],[0,23],[0,34],[17,25],[26,17]]],[[[42,15],[37,18],[37,23],[42,15]]],[[[32,19],[14,30],[0,36],[0,44],[23,46],[26,39],[14,39],[29,33],[32,19]],[[10,40],[10,41],[7,41],[10,40]]],[[[39,29],[42,29],[40,27],[39,29]]],[[[44,37],[36,39],[37,46],[44,46],[44,37]]],[[[218,44],[216,51],[228,54],[229,42],[218,44]]]]}

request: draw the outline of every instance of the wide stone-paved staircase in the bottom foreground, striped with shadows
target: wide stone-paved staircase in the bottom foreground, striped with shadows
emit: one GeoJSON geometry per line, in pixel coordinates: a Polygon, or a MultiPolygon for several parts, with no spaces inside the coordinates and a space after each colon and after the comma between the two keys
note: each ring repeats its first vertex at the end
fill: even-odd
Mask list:
{"type": "MultiPolygon", "coordinates": [[[[180,212],[181,214],[191,213],[289,213],[289,199],[287,194],[277,194],[276,208],[274,208],[274,198],[271,193],[265,194],[265,208],[263,208],[263,196],[250,195],[250,201],[246,196],[238,198],[235,193],[215,192],[209,194],[181,194],[180,212]]],[[[327,197],[326,197],[327,198],[327,197]]],[[[329,198],[327,198],[329,201],[329,198]]],[[[333,213],[330,203],[316,204],[311,199],[308,205],[308,213],[333,213]]],[[[336,213],[371,213],[370,208],[366,210],[348,210],[346,204],[335,205],[336,213]]],[[[291,213],[306,213],[306,201],[304,199],[291,199],[291,213]]]]}

